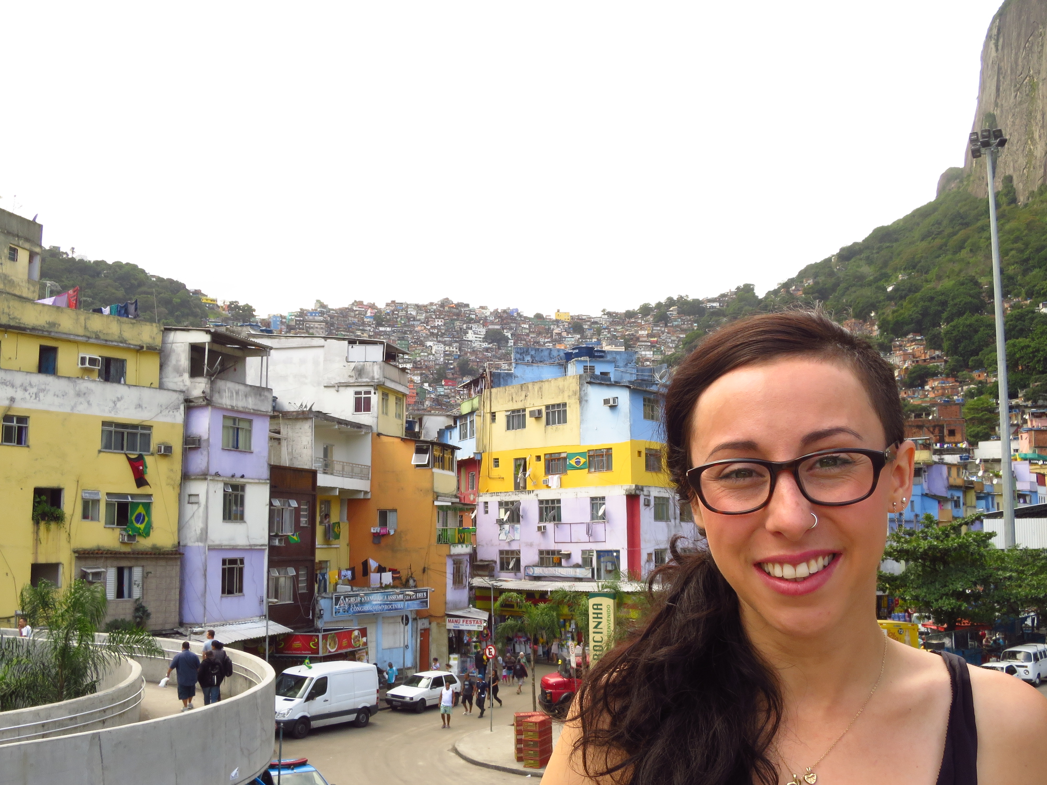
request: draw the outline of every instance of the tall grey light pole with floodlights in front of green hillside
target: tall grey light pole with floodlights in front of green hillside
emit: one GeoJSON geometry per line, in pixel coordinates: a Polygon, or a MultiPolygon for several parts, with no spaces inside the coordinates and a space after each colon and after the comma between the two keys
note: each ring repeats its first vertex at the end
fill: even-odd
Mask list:
{"type": "Polygon", "coordinates": [[[993,304],[996,312],[996,378],[1000,386],[1000,479],[1003,493],[1003,546],[1015,546],[1015,475],[1010,472],[1010,394],[1007,385],[1007,338],[1003,331],[1003,279],[1000,272],[1000,233],[996,226],[996,156],[1007,143],[1000,129],[972,131],[971,157],[985,157],[988,178],[988,226],[993,242],[993,304]]]}

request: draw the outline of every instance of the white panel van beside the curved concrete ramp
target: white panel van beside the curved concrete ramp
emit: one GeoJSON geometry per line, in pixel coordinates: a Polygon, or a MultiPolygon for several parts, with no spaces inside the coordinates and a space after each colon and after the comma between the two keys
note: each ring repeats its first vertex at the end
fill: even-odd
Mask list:
{"type": "Polygon", "coordinates": [[[369,663],[297,665],[276,677],[276,724],[295,739],[338,722],[364,727],[377,711],[378,669],[369,663]]]}

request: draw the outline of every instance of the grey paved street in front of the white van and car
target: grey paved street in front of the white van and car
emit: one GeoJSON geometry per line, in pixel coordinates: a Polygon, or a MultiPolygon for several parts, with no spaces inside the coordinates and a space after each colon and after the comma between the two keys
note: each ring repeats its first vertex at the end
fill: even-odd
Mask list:
{"type": "MultiPolygon", "coordinates": [[[[539,678],[554,669],[538,666],[539,678]]],[[[505,705],[495,703],[494,721],[512,724],[513,712],[531,711],[531,685],[522,695],[515,687],[503,685],[498,697],[505,705]]],[[[490,712],[484,719],[462,716],[456,706],[451,715],[451,730],[440,727],[440,714],[433,706],[423,714],[383,710],[371,718],[367,727],[334,725],[312,731],[300,741],[284,737],[284,758],[308,758],[332,785],[356,782],[400,783],[425,782],[427,785],[487,785],[505,783],[524,785],[539,778],[525,778],[474,766],[459,758],[451,746],[460,736],[488,727],[490,712]]],[[[276,747],[273,746],[273,758],[276,747]]]]}

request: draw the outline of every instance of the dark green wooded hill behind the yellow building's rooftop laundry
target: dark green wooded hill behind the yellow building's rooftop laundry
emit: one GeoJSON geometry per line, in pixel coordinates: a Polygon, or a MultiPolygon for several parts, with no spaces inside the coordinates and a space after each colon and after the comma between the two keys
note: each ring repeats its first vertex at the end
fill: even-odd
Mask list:
{"type": "Polygon", "coordinates": [[[82,310],[137,298],[140,318],[149,321],[169,327],[199,327],[207,318],[204,304],[190,294],[182,282],[150,275],[137,265],[125,262],[86,262],[48,249],[44,251],[41,278],[59,285],[58,289],[51,287],[51,294],[79,286],[82,310]]]}

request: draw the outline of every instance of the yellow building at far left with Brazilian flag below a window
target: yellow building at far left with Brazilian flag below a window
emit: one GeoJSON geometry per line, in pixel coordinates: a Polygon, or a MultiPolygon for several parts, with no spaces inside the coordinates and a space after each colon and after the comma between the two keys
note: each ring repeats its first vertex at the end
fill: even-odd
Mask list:
{"type": "Polygon", "coordinates": [[[0,618],[30,582],[83,578],[105,583],[109,619],[140,601],[150,629],[174,628],[183,414],[159,388],[162,330],[34,302],[40,242],[39,224],[0,210],[17,257],[0,267],[0,618]]]}

